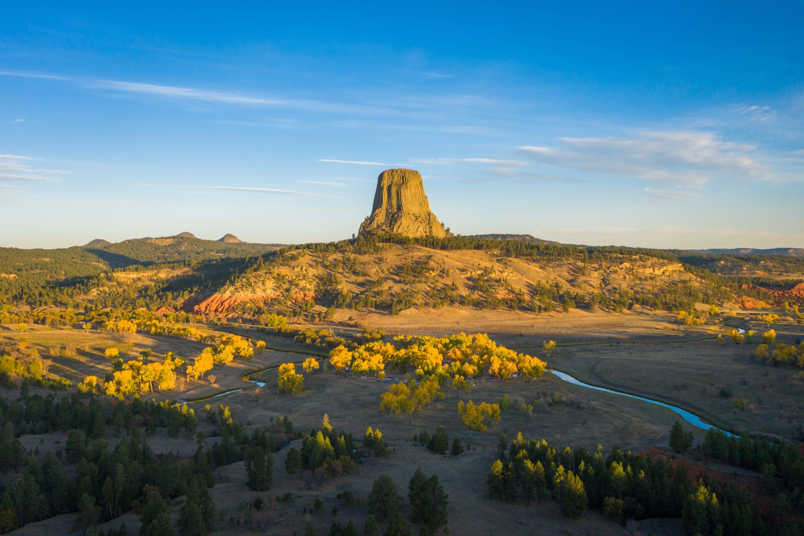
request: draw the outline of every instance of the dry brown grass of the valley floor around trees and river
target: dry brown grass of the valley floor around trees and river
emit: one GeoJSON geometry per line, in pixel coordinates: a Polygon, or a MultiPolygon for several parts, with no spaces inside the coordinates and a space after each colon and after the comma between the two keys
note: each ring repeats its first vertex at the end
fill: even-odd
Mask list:
{"type": "MultiPolygon", "coordinates": [[[[628,311],[622,314],[573,311],[572,314],[529,315],[513,311],[461,311],[412,310],[408,315],[397,316],[360,315],[355,311],[340,311],[336,318],[340,323],[334,328],[342,332],[354,330],[356,325],[383,327],[389,335],[397,333],[441,336],[451,332],[488,332],[500,344],[517,348],[548,361],[548,366],[572,374],[581,381],[606,386],[615,390],[640,394],[682,406],[708,418],[712,423],[736,430],[777,434],[792,438],[802,424],[800,416],[802,381],[799,369],[777,369],[755,362],[753,344],[725,344],[716,340],[716,333],[728,332],[732,326],[763,331],[763,326],[749,324],[742,318],[712,318],[707,324],[683,326],[675,321],[675,315],[647,310],[628,311]],[[349,313],[349,315],[347,315],[349,313]],[[559,345],[550,357],[544,357],[541,348],[544,340],[556,340],[559,345]],[[731,397],[720,396],[720,389],[728,388],[731,397]],[[732,402],[745,399],[749,410],[737,410],[732,402]]],[[[207,332],[215,327],[197,325],[207,332]]],[[[791,344],[796,338],[804,338],[800,324],[782,322],[776,324],[777,340],[791,344]]],[[[220,328],[224,329],[224,328],[220,328]]],[[[323,501],[321,511],[314,513],[319,533],[326,534],[333,521],[346,522],[351,518],[362,530],[366,518],[365,501],[371,482],[382,473],[388,473],[400,485],[404,494],[408,480],[417,467],[426,473],[436,473],[450,496],[449,528],[451,534],[499,534],[501,527],[508,534],[623,534],[623,527],[602,516],[599,511],[588,511],[578,521],[561,517],[553,501],[542,505],[525,507],[522,504],[498,504],[490,501],[486,493],[485,478],[490,464],[496,459],[495,449],[498,434],[509,439],[522,432],[528,438],[547,439],[555,447],[584,446],[589,449],[602,444],[605,451],[613,446],[623,450],[642,451],[654,445],[667,446],[671,425],[679,416],[671,410],[647,402],[625,398],[617,394],[601,393],[582,386],[574,386],[552,373],[533,381],[521,377],[500,382],[485,377],[474,380],[469,394],[461,393],[461,399],[474,402],[497,402],[508,395],[511,409],[504,410],[500,423],[485,432],[470,431],[457,415],[457,397],[454,390],[445,386],[445,399],[431,403],[420,412],[412,414],[412,423],[406,415],[386,415],[379,412],[379,397],[388,389],[379,381],[362,381],[356,377],[335,375],[326,364],[322,352],[312,352],[292,339],[265,336],[245,326],[225,328],[265,340],[269,348],[255,353],[254,359],[236,359],[231,364],[217,366],[214,384],[208,381],[181,382],[180,389],[165,393],[148,394],[157,399],[191,400],[190,406],[199,415],[199,431],[207,435],[214,427],[203,421],[201,408],[210,403],[229,406],[233,416],[244,423],[247,430],[268,423],[270,418],[288,415],[294,426],[309,431],[320,426],[323,414],[338,429],[361,437],[367,427],[379,428],[384,439],[392,447],[388,459],[363,460],[358,472],[328,480],[321,489],[312,488],[303,475],[296,479],[284,471],[284,460],[289,446],[278,451],[274,470],[274,484],[267,493],[249,491],[245,485],[243,462],[218,468],[215,476],[218,483],[211,489],[219,512],[220,534],[242,534],[244,530],[256,530],[264,534],[301,534],[303,531],[302,509],[310,509],[315,499],[323,501]],[[318,353],[322,369],[306,374],[305,390],[301,394],[277,394],[275,367],[284,362],[300,362],[306,353],[318,353]],[[256,370],[263,369],[260,372],[256,370]],[[252,382],[241,378],[265,381],[265,387],[257,389],[252,382]],[[238,392],[215,396],[228,390],[238,392]],[[516,409],[520,403],[530,404],[558,394],[552,404],[534,405],[531,416],[516,409]],[[413,435],[436,427],[445,427],[450,442],[458,437],[464,446],[471,449],[456,457],[441,457],[412,443],[413,435]],[[350,490],[358,497],[359,505],[346,506],[335,499],[343,490],[350,490]],[[293,494],[293,502],[274,501],[269,509],[260,513],[248,513],[244,505],[257,496],[271,501],[272,497],[293,494]],[[360,502],[362,501],[362,503],[360,502]],[[333,516],[331,509],[338,505],[339,513],[333,516]],[[260,530],[261,526],[267,527],[260,530]]],[[[193,340],[172,336],[150,336],[138,333],[135,336],[118,335],[73,328],[43,328],[35,326],[24,334],[8,326],[0,330],[0,340],[19,340],[25,337],[29,348],[51,361],[51,373],[80,381],[88,374],[103,376],[111,363],[104,356],[105,348],[121,350],[121,357],[133,359],[145,348],[153,350],[153,357],[160,359],[167,352],[183,357],[194,357],[205,346],[193,340]],[[55,355],[51,356],[51,348],[55,355]],[[59,349],[75,348],[73,355],[59,356],[59,349]]],[[[301,372],[301,367],[299,367],[301,372]]],[[[388,370],[388,377],[402,377],[388,370]]],[[[44,391],[43,391],[44,392],[44,391]]],[[[7,396],[14,396],[9,392],[7,396]]],[[[57,394],[58,396],[58,394],[57,394]]],[[[704,431],[687,426],[701,439],[704,431]]],[[[67,434],[23,435],[27,450],[39,447],[40,452],[57,450],[64,446],[67,434]]],[[[107,438],[113,447],[118,439],[107,438]]],[[[167,437],[164,431],[147,438],[156,452],[179,453],[191,456],[198,447],[195,437],[167,437]]],[[[214,442],[207,438],[207,444],[214,442]]],[[[295,444],[295,443],[294,443],[295,444]]],[[[297,445],[296,445],[297,446],[297,445]]],[[[8,475],[4,482],[13,480],[8,475]]],[[[182,497],[171,505],[171,515],[178,516],[182,497]]],[[[409,507],[403,501],[403,512],[409,507]]],[[[52,517],[43,522],[31,523],[15,534],[55,534],[68,532],[72,515],[52,517]]],[[[126,513],[104,528],[120,526],[125,522],[130,532],[136,532],[139,518],[126,513]]],[[[418,527],[414,526],[414,533],[418,527]]],[[[646,520],[638,524],[642,534],[680,534],[678,520],[646,520]]]]}

